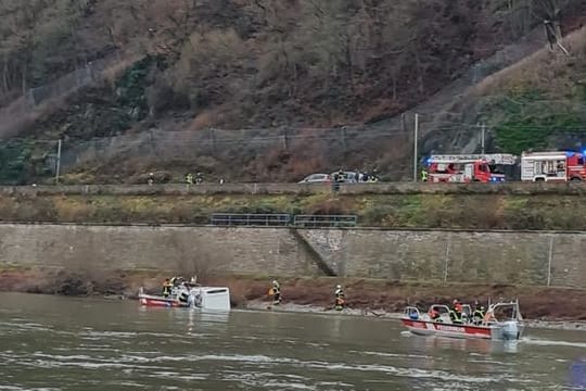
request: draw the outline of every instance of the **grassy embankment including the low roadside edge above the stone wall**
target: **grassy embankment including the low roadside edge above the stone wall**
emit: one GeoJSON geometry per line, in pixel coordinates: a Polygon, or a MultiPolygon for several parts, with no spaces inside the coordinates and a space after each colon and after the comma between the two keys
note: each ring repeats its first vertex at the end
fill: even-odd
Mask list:
{"type": "Polygon", "coordinates": [[[205,225],[213,213],[356,215],[390,229],[586,230],[582,184],[226,184],[0,188],[0,220],[205,225]]]}

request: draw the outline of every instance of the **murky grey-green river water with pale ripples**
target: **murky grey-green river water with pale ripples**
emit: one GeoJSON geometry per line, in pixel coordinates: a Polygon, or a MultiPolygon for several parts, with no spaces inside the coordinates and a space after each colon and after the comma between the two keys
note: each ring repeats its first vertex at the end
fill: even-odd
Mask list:
{"type": "Polygon", "coordinates": [[[0,303],[0,390],[568,390],[586,358],[584,331],[527,330],[505,344],[343,315],[15,293],[0,303]]]}

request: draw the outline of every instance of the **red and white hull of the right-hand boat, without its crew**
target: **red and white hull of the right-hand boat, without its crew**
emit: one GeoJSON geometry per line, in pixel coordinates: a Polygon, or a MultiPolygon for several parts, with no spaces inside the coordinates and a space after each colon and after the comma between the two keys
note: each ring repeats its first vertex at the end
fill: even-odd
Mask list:
{"type": "Polygon", "coordinates": [[[514,340],[521,332],[511,329],[512,324],[507,326],[474,326],[474,325],[449,325],[438,321],[402,319],[403,325],[412,333],[419,336],[441,336],[450,338],[474,338],[486,340],[514,340]],[[507,328],[508,327],[508,328],[507,328]]]}

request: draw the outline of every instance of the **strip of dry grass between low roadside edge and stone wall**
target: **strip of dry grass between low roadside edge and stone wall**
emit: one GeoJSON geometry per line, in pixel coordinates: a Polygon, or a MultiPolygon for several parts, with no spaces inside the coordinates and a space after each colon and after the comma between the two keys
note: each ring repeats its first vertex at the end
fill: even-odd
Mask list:
{"type": "MultiPolygon", "coordinates": [[[[586,230],[576,195],[533,194],[158,194],[0,195],[0,219],[111,224],[205,224],[216,212],[356,214],[361,226],[391,228],[586,230]]],[[[196,241],[194,242],[196,244],[196,241]]],[[[204,248],[205,243],[201,243],[204,248]]],[[[188,254],[188,252],[186,252],[188,254]]],[[[205,252],[193,260],[212,257],[205,252]],[[209,256],[207,256],[209,255],[209,256]]],[[[221,265],[220,265],[221,266],[221,265]]]]}

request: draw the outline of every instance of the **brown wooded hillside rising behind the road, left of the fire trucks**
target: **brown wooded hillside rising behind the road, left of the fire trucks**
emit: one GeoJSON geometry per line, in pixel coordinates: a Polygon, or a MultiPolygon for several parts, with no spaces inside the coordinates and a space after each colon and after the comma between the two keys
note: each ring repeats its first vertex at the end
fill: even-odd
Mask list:
{"type": "Polygon", "coordinates": [[[450,104],[449,87],[473,64],[542,18],[565,26],[583,5],[513,3],[8,2],[0,5],[0,106],[22,91],[36,105],[33,92],[54,87],[42,89],[42,110],[0,112],[4,135],[18,135],[0,148],[0,180],[52,175],[56,139],[69,181],[135,181],[145,171],[291,180],[342,165],[378,166],[399,179],[409,172],[410,126],[385,118],[438,91],[450,104]],[[58,83],[106,58],[91,83],[72,85],[80,89],[65,93],[58,83]]]}

